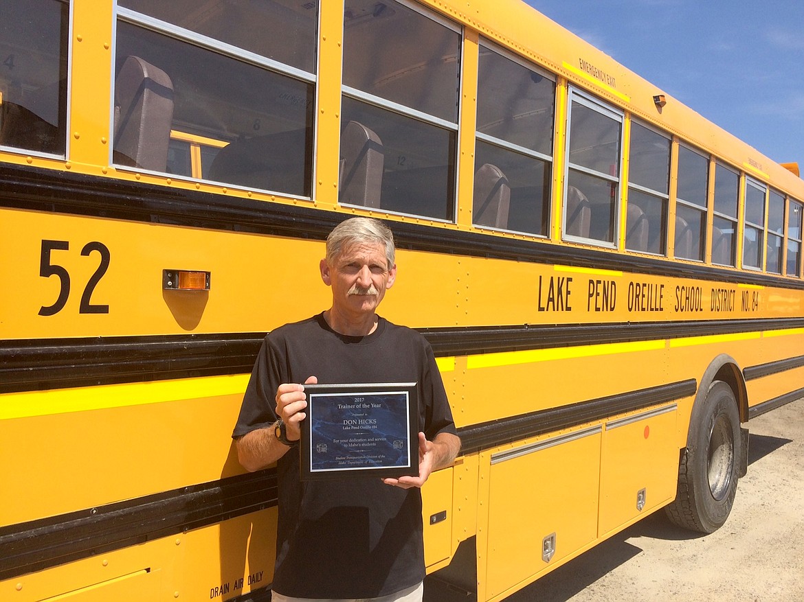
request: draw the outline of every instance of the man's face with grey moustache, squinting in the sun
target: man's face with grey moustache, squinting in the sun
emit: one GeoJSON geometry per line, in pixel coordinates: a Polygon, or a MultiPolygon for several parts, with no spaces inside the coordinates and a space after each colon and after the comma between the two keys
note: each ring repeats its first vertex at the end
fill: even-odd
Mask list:
{"type": "Polygon", "coordinates": [[[385,291],[396,279],[396,265],[388,266],[385,247],[355,242],[343,246],[332,264],[321,260],[321,277],[332,287],[334,310],[350,315],[373,315],[385,291]]]}

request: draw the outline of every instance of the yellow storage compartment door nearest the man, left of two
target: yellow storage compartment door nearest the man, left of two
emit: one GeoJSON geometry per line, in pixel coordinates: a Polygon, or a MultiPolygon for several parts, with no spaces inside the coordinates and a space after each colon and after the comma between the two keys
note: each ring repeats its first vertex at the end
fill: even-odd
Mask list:
{"type": "Polygon", "coordinates": [[[601,432],[564,437],[542,437],[544,448],[537,443],[532,451],[523,441],[483,454],[490,466],[480,489],[488,509],[478,524],[478,600],[499,596],[597,537],[601,432]],[[503,450],[523,455],[500,460],[503,450]],[[550,535],[555,553],[545,560],[550,535]]]}

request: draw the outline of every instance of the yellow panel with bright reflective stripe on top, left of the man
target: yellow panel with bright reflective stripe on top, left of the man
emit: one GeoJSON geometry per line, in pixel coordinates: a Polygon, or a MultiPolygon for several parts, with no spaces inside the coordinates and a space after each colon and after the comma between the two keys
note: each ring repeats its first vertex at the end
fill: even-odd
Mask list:
{"type": "Polygon", "coordinates": [[[17,458],[0,462],[14,492],[0,500],[0,524],[243,473],[231,434],[245,383],[213,376],[0,396],[17,414],[0,418],[0,457],[17,458]],[[32,445],[32,433],[47,445],[32,445]]]}

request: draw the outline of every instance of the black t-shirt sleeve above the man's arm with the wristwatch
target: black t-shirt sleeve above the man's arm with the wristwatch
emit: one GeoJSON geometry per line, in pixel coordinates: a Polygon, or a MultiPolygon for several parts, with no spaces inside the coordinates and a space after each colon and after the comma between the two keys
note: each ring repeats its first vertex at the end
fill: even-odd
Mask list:
{"type": "Polygon", "coordinates": [[[281,363],[277,361],[276,350],[266,337],[254,362],[232,437],[242,437],[277,421],[275,397],[282,382],[281,363]]]}

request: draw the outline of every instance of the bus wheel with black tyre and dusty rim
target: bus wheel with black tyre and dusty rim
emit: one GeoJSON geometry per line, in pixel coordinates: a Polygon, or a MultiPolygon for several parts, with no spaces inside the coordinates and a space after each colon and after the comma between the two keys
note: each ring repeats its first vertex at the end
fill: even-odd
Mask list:
{"type": "Polygon", "coordinates": [[[679,527],[716,531],[728,519],[737,490],[740,416],[734,392],[716,380],[699,412],[693,409],[679,488],[667,516],[679,527]]]}

